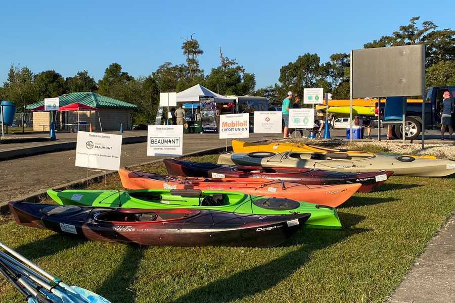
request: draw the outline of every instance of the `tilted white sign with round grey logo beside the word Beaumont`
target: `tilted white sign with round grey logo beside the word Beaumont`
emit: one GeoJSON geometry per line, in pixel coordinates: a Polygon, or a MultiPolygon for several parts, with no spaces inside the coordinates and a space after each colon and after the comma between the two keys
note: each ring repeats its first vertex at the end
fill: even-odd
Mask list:
{"type": "Polygon", "coordinates": [[[122,136],[79,131],[76,143],[76,166],[119,170],[122,136]]]}

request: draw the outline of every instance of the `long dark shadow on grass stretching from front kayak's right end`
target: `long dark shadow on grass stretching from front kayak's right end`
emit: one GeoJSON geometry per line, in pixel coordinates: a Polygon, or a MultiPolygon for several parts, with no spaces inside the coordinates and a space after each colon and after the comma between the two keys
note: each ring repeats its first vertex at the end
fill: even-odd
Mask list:
{"type": "MultiPolygon", "coordinates": [[[[346,218],[348,215],[353,216],[349,218],[348,225],[365,218],[350,214],[346,214],[346,218]]],[[[307,243],[301,248],[266,264],[255,266],[196,288],[178,297],[173,302],[228,302],[244,299],[274,287],[286,279],[310,260],[311,252],[327,248],[365,231],[368,230],[360,228],[342,230],[303,229],[295,235],[296,239],[292,241],[307,243]]]]}

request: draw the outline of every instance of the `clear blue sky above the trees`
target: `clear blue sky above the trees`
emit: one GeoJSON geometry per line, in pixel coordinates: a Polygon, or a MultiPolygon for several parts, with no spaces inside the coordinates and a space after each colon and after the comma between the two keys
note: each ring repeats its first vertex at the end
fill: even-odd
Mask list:
{"type": "Polygon", "coordinates": [[[413,16],[455,28],[452,1],[1,1],[0,83],[11,63],[63,77],[87,70],[98,80],[117,62],[130,75],[148,75],[166,61],[184,63],[181,43],[195,33],[206,73],[219,65],[221,46],[259,88],[299,55],[327,61],[413,16]]]}

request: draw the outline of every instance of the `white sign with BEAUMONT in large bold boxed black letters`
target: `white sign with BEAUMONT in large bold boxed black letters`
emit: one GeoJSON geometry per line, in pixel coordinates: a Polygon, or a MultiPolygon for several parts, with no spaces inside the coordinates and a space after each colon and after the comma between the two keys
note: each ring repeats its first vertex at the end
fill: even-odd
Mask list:
{"type": "Polygon", "coordinates": [[[147,156],[183,155],[183,125],[149,125],[147,156]]]}

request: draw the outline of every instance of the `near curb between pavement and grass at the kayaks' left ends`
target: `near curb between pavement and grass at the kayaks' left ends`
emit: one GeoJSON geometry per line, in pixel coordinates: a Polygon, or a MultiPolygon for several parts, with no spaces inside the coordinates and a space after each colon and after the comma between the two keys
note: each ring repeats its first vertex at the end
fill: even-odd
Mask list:
{"type": "MultiPolygon", "coordinates": [[[[147,138],[147,136],[145,136],[145,137],[147,138]]],[[[135,142],[129,142],[129,143],[135,143],[135,142]]],[[[75,142],[74,142],[74,144],[75,144],[75,142]]],[[[128,143],[125,143],[125,144],[128,144],[128,143]]],[[[184,155],[181,155],[181,156],[175,157],[175,158],[204,156],[204,155],[207,155],[210,153],[220,153],[225,150],[226,150],[225,146],[214,147],[214,148],[208,148],[208,149],[194,151],[193,153],[184,154],[184,155]]],[[[228,151],[230,151],[230,150],[232,150],[231,145],[228,146],[228,151]]],[[[161,161],[163,161],[163,160],[157,159],[157,160],[153,160],[153,161],[147,161],[147,162],[143,162],[143,163],[139,163],[139,164],[129,165],[128,168],[140,167],[143,165],[148,165],[148,164],[157,163],[157,162],[161,162],[161,161]]],[[[96,174],[96,175],[90,176],[88,178],[78,179],[78,180],[71,181],[71,182],[68,182],[65,184],[61,184],[61,185],[57,185],[57,186],[54,186],[51,188],[55,189],[55,190],[62,190],[62,189],[68,189],[68,188],[79,188],[79,187],[84,186],[87,182],[93,182],[93,181],[99,182],[104,178],[105,175],[107,177],[109,175],[116,174],[116,173],[117,173],[117,171],[106,171],[106,174],[103,174],[103,173],[96,174]]],[[[22,195],[22,196],[16,197],[14,199],[11,199],[11,200],[8,200],[5,202],[1,202],[0,203],[0,215],[7,214],[9,212],[8,203],[10,203],[10,202],[27,201],[27,202],[31,202],[31,203],[39,203],[41,200],[43,200],[47,196],[46,191],[47,191],[47,189],[38,190],[38,191],[32,192],[27,195],[22,195]]]]}

